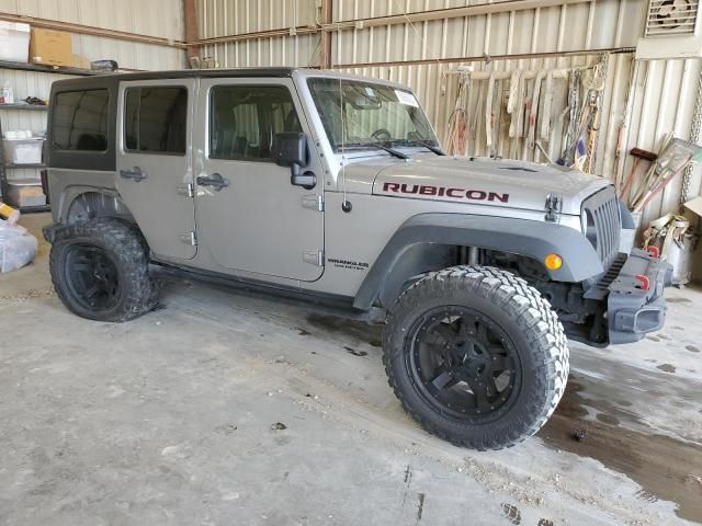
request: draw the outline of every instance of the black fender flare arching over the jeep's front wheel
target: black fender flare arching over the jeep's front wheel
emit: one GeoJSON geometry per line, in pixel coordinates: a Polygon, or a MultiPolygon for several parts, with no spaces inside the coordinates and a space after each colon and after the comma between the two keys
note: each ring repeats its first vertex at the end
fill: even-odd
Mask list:
{"type": "Polygon", "coordinates": [[[390,238],[361,284],[353,306],[367,310],[380,301],[382,307],[389,307],[407,279],[438,270],[431,266],[431,258],[419,255],[431,253],[432,245],[477,247],[541,262],[556,253],[563,258],[563,266],[548,271],[556,282],[580,283],[604,272],[592,244],[569,227],[508,217],[420,214],[405,221],[390,238]]]}

